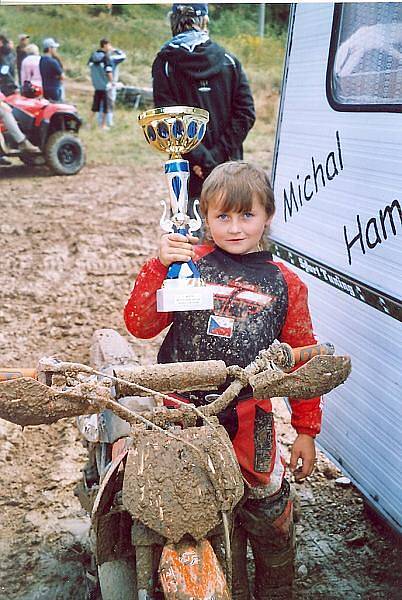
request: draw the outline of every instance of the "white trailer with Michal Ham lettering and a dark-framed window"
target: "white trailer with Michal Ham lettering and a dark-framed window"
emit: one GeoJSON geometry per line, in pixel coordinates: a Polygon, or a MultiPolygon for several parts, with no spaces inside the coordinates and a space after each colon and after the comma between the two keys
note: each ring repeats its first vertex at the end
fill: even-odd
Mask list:
{"type": "Polygon", "coordinates": [[[319,445],[402,532],[402,3],[293,5],[273,250],[352,357],[319,445]]]}

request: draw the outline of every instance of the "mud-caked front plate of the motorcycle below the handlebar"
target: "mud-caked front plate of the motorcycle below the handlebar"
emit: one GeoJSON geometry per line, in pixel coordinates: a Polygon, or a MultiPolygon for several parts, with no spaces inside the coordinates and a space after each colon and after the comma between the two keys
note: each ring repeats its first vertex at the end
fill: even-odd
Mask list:
{"type": "Polygon", "coordinates": [[[165,432],[139,429],[127,456],[123,504],[163,538],[200,540],[231,513],[244,485],[225,429],[189,427],[165,432]]]}

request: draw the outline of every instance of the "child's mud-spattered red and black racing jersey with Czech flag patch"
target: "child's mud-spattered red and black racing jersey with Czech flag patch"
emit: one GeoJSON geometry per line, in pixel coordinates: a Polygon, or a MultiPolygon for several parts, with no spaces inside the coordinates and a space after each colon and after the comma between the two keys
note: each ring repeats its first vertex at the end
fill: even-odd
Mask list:
{"type": "MultiPolygon", "coordinates": [[[[212,311],[158,313],[156,290],[167,269],[154,258],[139,273],[124,317],[139,338],[152,338],[171,325],[158,362],[224,360],[245,367],[275,339],[292,347],[315,344],[307,288],[269,252],[234,255],[209,245],[196,247],[202,278],[214,290],[212,311]]],[[[319,399],[293,405],[298,433],[320,430],[319,399]]]]}

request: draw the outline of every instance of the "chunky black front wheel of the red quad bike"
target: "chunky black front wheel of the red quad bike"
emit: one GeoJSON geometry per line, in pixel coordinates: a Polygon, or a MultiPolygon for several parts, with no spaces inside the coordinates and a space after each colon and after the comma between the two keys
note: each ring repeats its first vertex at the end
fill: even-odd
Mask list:
{"type": "Polygon", "coordinates": [[[85,151],[77,136],[58,131],[49,137],[45,158],[56,175],[75,175],[85,164],[85,151]]]}

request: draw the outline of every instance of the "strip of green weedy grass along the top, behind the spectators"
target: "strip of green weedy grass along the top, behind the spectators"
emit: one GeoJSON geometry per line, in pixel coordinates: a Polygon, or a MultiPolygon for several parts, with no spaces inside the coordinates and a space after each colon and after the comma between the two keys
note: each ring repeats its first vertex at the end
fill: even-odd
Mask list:
{"type": "MultiPolygon", "coordinates": [[[[0,6],[0,30],[16,42],[21,31],[41,45],[52,36],[60,43],[60,56],[69,77],[89,81],[87,61],[101,37],[127,52],[121,67],[126,83],[150,85],[150,68],[161,45],[171,37],[167,12],[170,5],[121,6],[121,14],[110,15],[106,5],[0,6]]],[[[272,27],[266,37],[256,35],[255,5],[242,10],[223,10],[211,5],[211,36],[242,61],[250,80],[259,85],[257,73],[278,88],[282,76],[284,36],[272,27]],[[214,11],[219,18],[214,21],[214,11]]]]}

